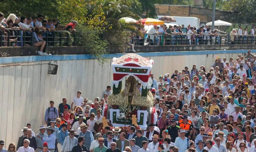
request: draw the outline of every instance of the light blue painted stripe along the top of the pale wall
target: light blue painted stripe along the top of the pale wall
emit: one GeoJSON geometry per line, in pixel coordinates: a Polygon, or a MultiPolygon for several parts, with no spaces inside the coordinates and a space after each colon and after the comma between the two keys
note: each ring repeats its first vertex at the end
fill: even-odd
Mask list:
{"type": "MultiPolygon", "coordinates": [[[[214,50],[214,51],[182,51],[182,52],[151,52],[137,53],[142,57],[176,56],[176,55],[201,55],[201,54],[230,54],[247,53],[248,50],[214,50]]],[[[256,53],[256,50],[251,50],[256,53]]],[[[121,57],[123,54],[106,54],[105,58],[121,57]]],[[[26,57],[1,57],[0,64],[26,63],[38,61],[64,61],[64,60],[88,60],[95,59],[93,55],[52,55],[52,56],[26,56],[26,57]]]]}

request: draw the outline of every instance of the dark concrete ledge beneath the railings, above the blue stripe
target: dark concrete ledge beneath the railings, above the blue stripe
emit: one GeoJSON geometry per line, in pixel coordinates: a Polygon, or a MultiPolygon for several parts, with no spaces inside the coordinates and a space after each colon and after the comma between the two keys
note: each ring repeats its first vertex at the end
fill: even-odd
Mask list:
{"type": "MultiPolygon", "coordinates": [[[[137,53],[149,52],[181,52],[181,51],[203,51],[203,50],[253,50],[255,45],[179,45],[179,46],[135,46],[137,53]]],[[[37,47],[0,47],[0,57],[36,56],[37,47]]],[[[84,47],[46,47],[52,55],[79,55],[89,54],[84,47]]],[[[111,50],[111,49],[110,49],[111,50]]],[[[116,50],[109,51],[110,54],[119,53],[116,50]]]]}

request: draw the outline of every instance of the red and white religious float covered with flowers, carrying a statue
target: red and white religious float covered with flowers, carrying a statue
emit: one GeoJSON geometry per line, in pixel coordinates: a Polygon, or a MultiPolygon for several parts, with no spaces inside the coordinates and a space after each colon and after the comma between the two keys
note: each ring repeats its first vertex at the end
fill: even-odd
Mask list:
{"type": "Polygon", "coordinates": [[[113,93],[108,97],[108,105],[103,109],[103,117],[109,119],[114,127],[135,126],[146,130],[148,124],[156,123],[157,113],[152,107],[154,98],[149,91],[149,79],[154,61],[137,54],[126,54],[113,58],[113,93]],[[122,90],[122,80],[125,87],[122,90]],[[141,83],[141,92],[137,88],[141,83]]]}

